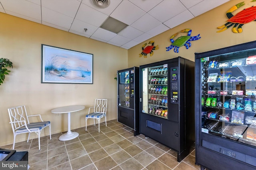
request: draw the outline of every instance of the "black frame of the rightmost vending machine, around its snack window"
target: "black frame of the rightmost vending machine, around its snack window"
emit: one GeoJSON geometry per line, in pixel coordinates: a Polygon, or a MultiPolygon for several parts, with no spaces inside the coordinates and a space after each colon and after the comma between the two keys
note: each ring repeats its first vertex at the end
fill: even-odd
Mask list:
{"type": "MultiPolygon", "coordinates": [[[[223,58],[226,57],[227,59],[232,61],[232,60],[236,60],[239,55],[244,56],[243,51],[255,49],[255,48],[256,48],[256,41],[252,41],[248,43],[242,43],[239,45],[207,51],[203,53],[195,53],[196,164],[201,166],[201,170],[204,170],[205,168],[210,170],[235,170],[235,169],[255,170],[256,169],[256,166],[252,165],[252,164],[256,164],[255,163],[256,147],[245,144],[243,142],[238,142],[232,139],[232,137],[226,137],[226,135],[221,135],[221,133],[219,135],[216,132],[210,133],[210,130],[209,130],[209,133],[203,132],[204,129],[202,128],[202,125],[204,123],[202,122],[203,120],[202,111],[204,111],[204,106],[202,106],[202,98],[201,98],[202,95],[205,94],[203,93],[203,89],[202,89],[203,87],[201,82],[203,78],[203,72],[201,72],[202,71],[201,69],[203,69],[203,66],[201,66],[201,62],[203,61],[202,59],[205,59],[207,57],[212,57],[212,56],[220,56],[223,58]],[[235,53],[235,55],[233,53],[235,53]]],[[[256,54],[256,51],[254,50],[254,55],[255,54],[256,54]]],[[[226,67],[225,65],[223,66],[226,67]]],[[[228,95],[223,94],[223,96],[228,96],[228,95]]],[[[233,96],[233,94],[229,96],[233,96]]],[[[244,95],[244,98],[246,98],[245,95],[244,95]]],[[[222,107],[224,106],[222,105],[222,107]]],[[[214,108],[215,107],[213,107],[212,109],[214,108]]],[[[228,123],[232,125],[231,121],[228,123]]],[[[242,126],[246,128],[246,125],[242,125],[242,126]]],[[[248,125],[248,127],[249,126],[250,125],[248,125]]]]}

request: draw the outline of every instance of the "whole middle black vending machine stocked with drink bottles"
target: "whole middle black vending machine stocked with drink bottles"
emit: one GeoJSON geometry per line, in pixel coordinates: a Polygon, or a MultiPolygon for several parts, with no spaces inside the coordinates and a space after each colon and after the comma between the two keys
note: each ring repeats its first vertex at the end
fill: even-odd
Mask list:
{"type": "Polygon", "coordinates": [[[182,57],[140,66],[140,133],[177,152],[194,144],[194,62],[182,57]]]}

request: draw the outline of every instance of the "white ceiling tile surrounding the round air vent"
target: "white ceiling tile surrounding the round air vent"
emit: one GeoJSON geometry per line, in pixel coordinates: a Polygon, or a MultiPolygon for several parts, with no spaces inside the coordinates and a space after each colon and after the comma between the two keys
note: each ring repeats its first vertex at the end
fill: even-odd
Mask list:
{"type": "Polygon", "coordinates": [[[106,15],[110,15],[115,9],[116,7],[122,2],[122,0],[111,0],[110,4],[107,8],[100,8],[95,6],[94,4],[92,4],[92,0],[82,0],[83,4],[86,4],[87,6],[90,6],[91,8],[100,11],[106,15]]]}

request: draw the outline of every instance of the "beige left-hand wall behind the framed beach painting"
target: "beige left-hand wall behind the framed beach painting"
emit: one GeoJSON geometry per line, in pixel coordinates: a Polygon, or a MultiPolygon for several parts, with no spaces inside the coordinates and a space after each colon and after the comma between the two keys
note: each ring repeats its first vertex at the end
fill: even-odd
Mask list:
{"type": "MultiPolygon", "coordinates": [[[[29,114],[42,114],[43,120],[51,121],[52,133],[68,129],[68,115],[55,116],[52,109],[84,105],[85,110],[71,114],[71,129],[84,127],[88,107],[94,105],[95,98],[107,98],[107,120],[116,119],[114,77],[117,70],[127,68],[127,53],[114,45],[0,13],[0,58],[13,63],[10,75],[0,86],[0,146],[13,141],[9,107],[26,105],[29,114]],[[93,84],[41,84],[41,44],[93,54],[93,84]]],[[[48,128],[42,131],[44,135],[48,135],[48,128]]],[[[26,137],[18,135],[16,141],[26,137]]],[[[35,137],[32,133],[31,139],[35,137]]]]}

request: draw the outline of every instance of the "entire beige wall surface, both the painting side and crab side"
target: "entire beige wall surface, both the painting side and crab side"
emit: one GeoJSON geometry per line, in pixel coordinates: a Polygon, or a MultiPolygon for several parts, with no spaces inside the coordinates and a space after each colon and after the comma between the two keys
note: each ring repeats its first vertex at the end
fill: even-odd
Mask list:
{"type": "MultiPolygon", "coordinates": [[[[256,2],[250,1],[245,0],[246,5],[241,8],[256,5],[256,2]]],[[[78,104],[86,106],[85,110],[72,113],[71,117],[71,129],[83,127],[85,114],[88,113],[88,107],[93,105],[94,98],[107,98],[107,119],[116,119],[116,70],[178,56],[194,61],[195,52],[255,41],[255,21],[245,24],[242,33],[233,33],[231,27],[216,33],[216,27],[226,23],[226,11],[240,2],[230,0],[129,50],[0,13],[0,57],[10,59],[14,66],[0,86],[0,146],[10,144],[13,140],[8,123],[9,107],[26,105],[30,114],[42,114],[44,120],[51,121],[52,133],[67,130],[68,127],[67,115],[55,116],[50,112],[51,109],[78,104]],[[171,44],[169,38],[185,28],[192,29],[192,36],[200,33],[201,39],[191,41],[189,49],[180,47],[179,53],[174,53],[173,49],[166,52],[166,47],[171,44]],[[148,55],[147,58],[140,58],[142,45],[151,40],[159,45],[159,49],[154,51],[152,57],[148,55]],[[41,84],[41,44],[94,54],[93,84],[41,84]]],[[[42,132],[42,136],[48,134],[47,130],[42,132]]],[[[16,141],[24,141],[26,137],[19,135],[16,141]]]]}

